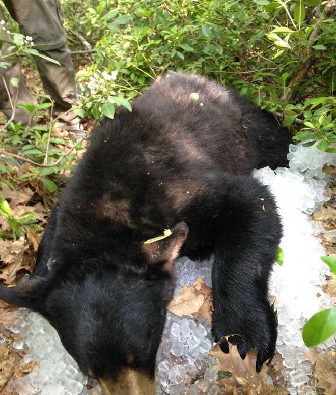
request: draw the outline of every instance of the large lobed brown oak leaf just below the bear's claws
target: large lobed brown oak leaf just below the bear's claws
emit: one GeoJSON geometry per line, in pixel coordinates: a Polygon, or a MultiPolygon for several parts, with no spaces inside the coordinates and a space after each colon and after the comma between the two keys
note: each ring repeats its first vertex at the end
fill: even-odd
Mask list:
{"type": "MultiPolygon", "coordinates": [[[[244,360],[241,359],[237,347],[229,344],[229,354],[223,353],[219,346],[209,351],[209,354],[214,358],[219,359],[219,365],[216,366],[221,372],[230,372],[227,374],[228,378],[218,380],[219,386],[225,388],[224,393],[235,393],[234,388],[243,388],[243,393],[248,395],[285,395],[288,392],[277,385],[272,385],[267,382],[267,366],[263,366],[260,373],[256,372],[256,357],[255,351],[249,352],[244,360]]],[[[220,375],[219,375],[220,377],[220,375]]]]}

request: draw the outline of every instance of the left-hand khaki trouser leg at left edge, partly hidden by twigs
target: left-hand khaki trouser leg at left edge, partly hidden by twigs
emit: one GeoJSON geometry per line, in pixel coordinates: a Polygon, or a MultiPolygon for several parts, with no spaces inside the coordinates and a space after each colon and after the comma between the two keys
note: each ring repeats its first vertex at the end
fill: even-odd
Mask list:
{"type": "MultiPolygon", "coordinates": [[[[0,7],[0,20],[5,20],[5,15],[3,9],[0,7]]],[[[2,25],[7,30],[6,24],[2,25]]],[[[12,41],[11,37],[5,33],[4,30],[0,30],[0,39],[6,41],[12,41]]],[[[10,44],[3,43],[1,51],[3,55],[8,53],[8,48],[10,44]]],[[[15,108],[18,104],[27,104],[34,103],[37,104],[35,97],[31,94],[31,92],[26,87],[24,76],[21,72],[21,65],[19,61],[16,62],[8,62],[9,65],[6,69],[0,68],[0,109],[7,118],[12,117],[12,105],[15,108]],[[18,87],[14,87],[11,83],[12,78],[17,78],[19,83],[18,87]],[[5,83],[4,83],[5,80],[5,83]],[[5,85],[6,84],[6,85],[5,85]],[[9,99],[8,92],[9,91],[11,100],[9,99]]],[[[26,125],[29,122],[29,113],[23,108],[16,108],[14,122],[22,122],[23,125],[26,125]]]]}

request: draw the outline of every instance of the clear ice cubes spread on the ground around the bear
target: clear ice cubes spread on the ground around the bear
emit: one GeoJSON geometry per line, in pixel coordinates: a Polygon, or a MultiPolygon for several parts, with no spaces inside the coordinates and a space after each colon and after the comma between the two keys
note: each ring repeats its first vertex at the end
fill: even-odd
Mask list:
{"type": "MultiPolygon", "coordinates": [[[[326,163],[336,166],[336,155],[318,151],[316,145],[291,145],[288,159],[290,169],[278,168],[274,172],[265,167],[254,172],[273,192],[284,225],[281,248],[285,258],[283,266],[274,265],[270,284],[279,321],[277,351],[283,356],[285,367],[276,384],[285,387],[291,395],[316,395],[316,382],[310,376],[312,366],[305,356],[308,349],[300,328],[307,318],[330,307],[333,301],[322,289],[330,271],[319,258],[325,252],[313,235],[317,227],[308,214],[328,197],[326,185],[330,176],[321,169],[326,163]]],[[[195,263],[186,257],[177,260],[176,292],[199,277],[211,285],[211,265],[211,261],[195,263]]],[[[11,329],[21,335],[15,347],[25,351],[22,363],[40,362],[33,372],[15,381],[19,395],[92,393],[86,387],[87,377],[80,373],[45,319],[21,310],[11,329]]],[[[217,360],[208,356],[212,341],[210,325],[205,320],[201,319],[197,326],[193,318],[168,313],[157,354],[158,394],[219,394],[216,381],[221,378],[221,372],[215,369],[217,360]]],[[[325,344],[335,347],[334,338],[325,344]]],[[[318,348],[323,350],[326,346],[322,344],[318,348]]]]}

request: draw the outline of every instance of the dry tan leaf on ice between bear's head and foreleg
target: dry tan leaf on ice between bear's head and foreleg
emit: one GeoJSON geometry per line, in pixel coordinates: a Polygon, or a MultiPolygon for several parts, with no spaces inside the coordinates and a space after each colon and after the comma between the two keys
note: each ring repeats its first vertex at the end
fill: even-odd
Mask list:
{"type": "Polygon", "coordinates": [[[200,277],[191,286],[183,286],[174,295],[168,310],[179,317],[189,316],[196,320],[203,316],[211,324],[212,288],[204,284],[203,278],[200,277]]]}

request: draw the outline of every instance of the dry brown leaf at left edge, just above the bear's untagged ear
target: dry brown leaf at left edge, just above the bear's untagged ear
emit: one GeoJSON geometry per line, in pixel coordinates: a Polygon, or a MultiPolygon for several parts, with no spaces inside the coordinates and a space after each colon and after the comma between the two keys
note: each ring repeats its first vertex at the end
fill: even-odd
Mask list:
{"type": "Polygon", "coordinates": [[[30,270],[29,261],[24,260],[26,243],[23,237],[19,240],[0,239],[0,279],[5,284],[15,284],[17,272],[21,269],[30,270]]]}

